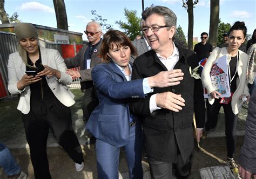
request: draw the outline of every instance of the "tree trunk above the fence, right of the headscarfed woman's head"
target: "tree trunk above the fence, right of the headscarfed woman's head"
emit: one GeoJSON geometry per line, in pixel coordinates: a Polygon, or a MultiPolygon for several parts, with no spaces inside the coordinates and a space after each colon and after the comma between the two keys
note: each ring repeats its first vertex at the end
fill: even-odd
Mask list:
{"type": "Polygon", "coordinates": [[[53,0],[58,29],[69,30],[64,0],[53,0]]]}

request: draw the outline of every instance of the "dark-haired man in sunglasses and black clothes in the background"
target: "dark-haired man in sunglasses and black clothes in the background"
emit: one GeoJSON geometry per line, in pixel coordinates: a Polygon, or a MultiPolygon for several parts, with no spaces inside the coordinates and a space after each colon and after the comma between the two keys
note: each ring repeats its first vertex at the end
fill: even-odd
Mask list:
{"type": "Polygon", "coordinates": [[[194,52],[197,53],[198,62],[201,59],[208,58],[212,52],[212,45],[207,43],[208,33],[203,32],[201,33],[201,42],[194,45],[194,52]]]}

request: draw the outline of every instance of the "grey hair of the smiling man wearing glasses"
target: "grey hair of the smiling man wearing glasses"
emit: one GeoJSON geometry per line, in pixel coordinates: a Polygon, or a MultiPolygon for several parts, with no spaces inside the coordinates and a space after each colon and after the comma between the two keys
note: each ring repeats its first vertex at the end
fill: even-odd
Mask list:
{"type": "Polygon", "coordinates": [[[142,12],[142,18],[146,19],[153,13],[156,13],[159,16],[163,16],[165,20],[165,25],[176,27],[177,17],[171,9],[166,8],[165,6],[151,5],[149,8],[146,8],[144,12],[142,12]]]}

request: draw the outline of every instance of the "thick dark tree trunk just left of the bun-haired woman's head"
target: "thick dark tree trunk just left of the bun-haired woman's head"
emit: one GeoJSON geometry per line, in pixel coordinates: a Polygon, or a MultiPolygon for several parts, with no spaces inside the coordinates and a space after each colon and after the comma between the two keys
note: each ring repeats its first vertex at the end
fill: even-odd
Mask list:
{"type": "Polygon", "coordinates": [[[210,30],[208,43],[215,47],[218,43],[220,1],[211,0],[210,30]]]}

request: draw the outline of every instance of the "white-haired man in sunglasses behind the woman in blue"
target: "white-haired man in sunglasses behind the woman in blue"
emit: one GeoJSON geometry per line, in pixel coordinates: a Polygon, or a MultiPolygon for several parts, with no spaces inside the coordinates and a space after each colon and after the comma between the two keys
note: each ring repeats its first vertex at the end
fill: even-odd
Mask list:
{"type": "MultiPolygon", "coordinates": [[[[94,21],[89,22],[84,33],[89,43],[85,44],[75,57],[65,59],[65,64],[68,68],[80,66],[80,71],[68,69],[66,73],[72,77],[80,78],[81,91],[84,92],[83,119],[87,121],[93,109],[99,104],[92,82],[91,71],[94,66],[102,61],[99,56],[102,44],[102,26],[94,21]]],[[[95,141],[95,137],[92,136],[85,144],[92,144],[95,141]]]]}

